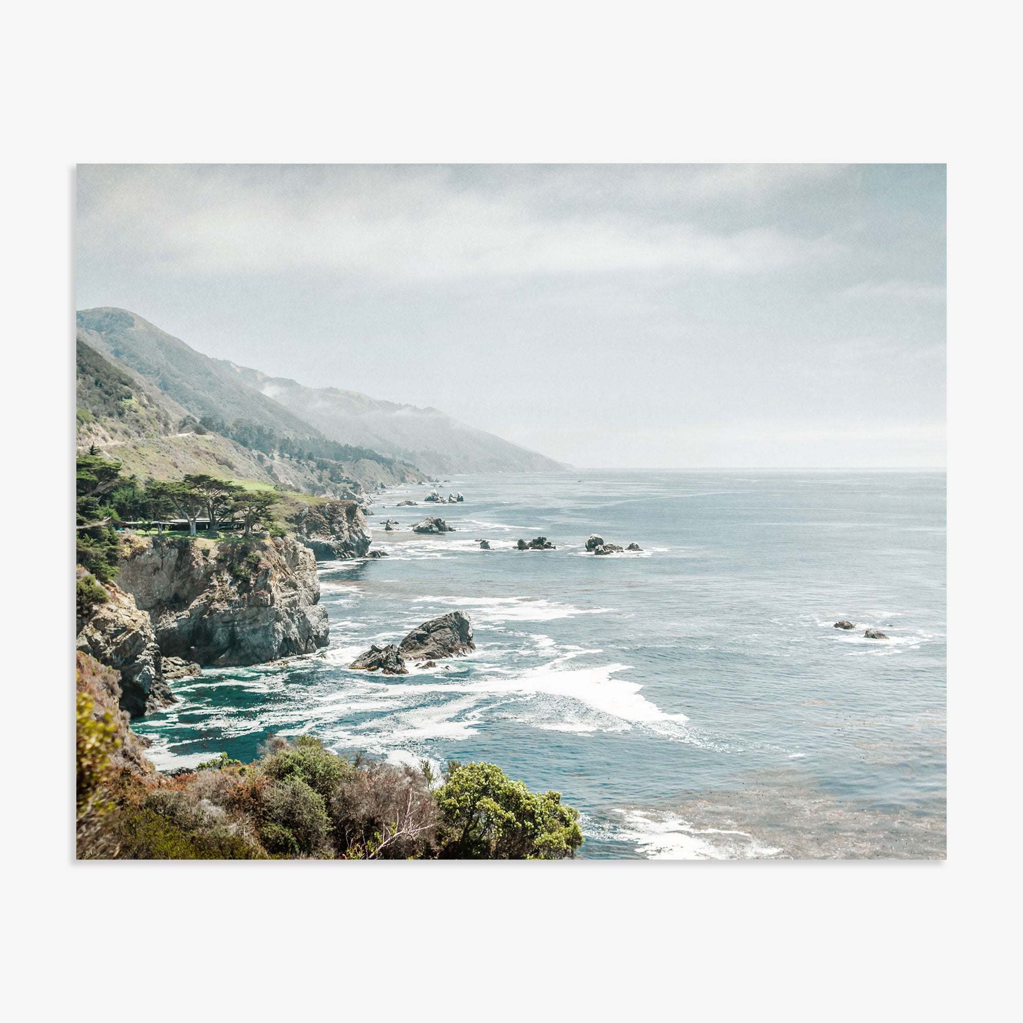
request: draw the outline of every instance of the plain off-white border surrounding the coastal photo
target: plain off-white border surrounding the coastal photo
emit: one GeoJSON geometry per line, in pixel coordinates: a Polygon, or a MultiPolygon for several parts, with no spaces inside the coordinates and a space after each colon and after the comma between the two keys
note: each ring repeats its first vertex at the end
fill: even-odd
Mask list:
{"type": "Polygon", "coordinates": [[[957,9],[182,2],[7,14],[2,785],[15,1018],[993,1014],[1011,976],[999,919],[1013,923],[1019,803],[1018,34],[1008,8],[957,9]],[[949,163],[948,862],[73,864],[61,749],[74,163],[711,160],[949,163]]]}

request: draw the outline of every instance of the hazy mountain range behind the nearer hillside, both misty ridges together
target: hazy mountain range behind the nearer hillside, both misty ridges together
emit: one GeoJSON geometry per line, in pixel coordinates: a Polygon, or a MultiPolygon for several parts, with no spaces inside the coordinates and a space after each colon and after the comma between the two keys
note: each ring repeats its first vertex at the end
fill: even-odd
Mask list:
{"type": "Polygon", "coordinates": [[[371,448],[426,473],[520,473],[561,462],[459,422],[436,408],[355,391],[308,388],[213,359],[124,309],[85,309],[79,337],[197,418],[247,419],[277,434],[371,448]]]}

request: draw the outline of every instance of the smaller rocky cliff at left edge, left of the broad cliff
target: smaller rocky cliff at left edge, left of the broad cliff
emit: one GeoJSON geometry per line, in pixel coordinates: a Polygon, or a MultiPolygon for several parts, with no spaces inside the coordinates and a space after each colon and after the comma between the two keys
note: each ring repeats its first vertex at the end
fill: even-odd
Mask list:
{"type": "Polygon", "coordinates": [[[120,673],[118,700],[133,717],[169,706],[174,697],[149,616],[120,587],[104,589],[106,603],[78,619],[76,649],[120,673]]]}

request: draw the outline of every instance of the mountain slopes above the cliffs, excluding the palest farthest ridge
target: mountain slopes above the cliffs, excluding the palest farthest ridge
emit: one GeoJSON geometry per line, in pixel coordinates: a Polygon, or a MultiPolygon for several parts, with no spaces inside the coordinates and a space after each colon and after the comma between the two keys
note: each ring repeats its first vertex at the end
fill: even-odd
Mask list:
{"type": "Polygon", "coordinates": [[[422,479],[403,460],[324,438],[140,316],[90,309],[78,321],[76,444],[95,446],[128,474],[210,473],[328,495],[353,482],[372,489],[422,479]],[[206,429],[203,417],[219,428],[206,429]],[[241,420],[249,426],[238,430],[241,420]]]}

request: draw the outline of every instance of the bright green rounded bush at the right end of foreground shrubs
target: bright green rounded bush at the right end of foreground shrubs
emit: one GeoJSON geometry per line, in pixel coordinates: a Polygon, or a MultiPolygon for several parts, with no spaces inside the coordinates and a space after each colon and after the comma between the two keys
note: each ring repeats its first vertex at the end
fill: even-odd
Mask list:
{"type": "Polygon", "coordinates": [[[531,793],[494,764],[455,765],[436,799],[444,858],[563,859],[582,845],[579,813],[561,793],[531,793]]]}

